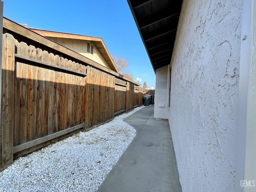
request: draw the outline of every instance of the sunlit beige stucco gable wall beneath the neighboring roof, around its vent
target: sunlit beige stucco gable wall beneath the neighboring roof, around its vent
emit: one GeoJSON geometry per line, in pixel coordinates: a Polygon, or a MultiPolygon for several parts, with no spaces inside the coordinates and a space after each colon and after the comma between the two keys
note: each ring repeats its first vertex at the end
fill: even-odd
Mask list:
{"type": "Polygon", "coordinates": [[[87,52],[88,41],[86,40],[58,38],[58,37],[48,37],[48,38],[110,69],[107,62],[102,57],[100,52],[97,50],[93,42],[89,42],[93,46],[93,54],[90,54],[87,52]]]}

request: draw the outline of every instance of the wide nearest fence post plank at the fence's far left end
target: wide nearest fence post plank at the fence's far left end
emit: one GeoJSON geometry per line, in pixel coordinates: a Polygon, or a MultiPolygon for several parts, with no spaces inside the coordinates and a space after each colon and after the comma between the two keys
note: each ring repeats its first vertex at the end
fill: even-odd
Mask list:
{"type": "Polygon", "coordinates": [[[3,35],[2,52],[2,167],[13,162],[15,39],[3,35]]]}

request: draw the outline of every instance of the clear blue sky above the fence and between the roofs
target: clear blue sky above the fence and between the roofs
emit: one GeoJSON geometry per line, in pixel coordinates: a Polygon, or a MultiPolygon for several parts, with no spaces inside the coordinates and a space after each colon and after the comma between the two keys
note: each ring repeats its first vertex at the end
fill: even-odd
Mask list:
{"type": "Polygon", "coordinates": [[[126,0],[2,0],[4,17],[28,27],[101,37],[111,55],[126,58],[136,78],[156,76],[126,0]]]}

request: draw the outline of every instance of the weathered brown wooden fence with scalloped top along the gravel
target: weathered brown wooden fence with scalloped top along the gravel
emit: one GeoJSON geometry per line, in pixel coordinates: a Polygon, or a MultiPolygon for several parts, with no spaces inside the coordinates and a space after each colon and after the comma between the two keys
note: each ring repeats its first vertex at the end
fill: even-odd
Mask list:
{"type": "Polygon", "coordinates": [[[0,170],[142,105],[143,89],[3,35],[0,170]]]}

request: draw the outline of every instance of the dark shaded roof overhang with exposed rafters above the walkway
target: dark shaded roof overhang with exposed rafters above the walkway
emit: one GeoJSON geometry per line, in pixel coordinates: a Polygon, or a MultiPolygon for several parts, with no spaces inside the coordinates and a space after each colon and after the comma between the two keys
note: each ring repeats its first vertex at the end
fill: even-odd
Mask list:
{"type": "Polygon", "coordinates": [[[154,71],[170,64],[182,0],[127,0],[154,71]]]}

